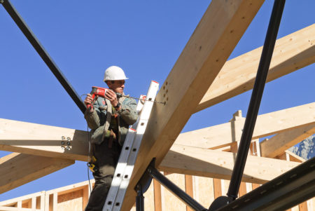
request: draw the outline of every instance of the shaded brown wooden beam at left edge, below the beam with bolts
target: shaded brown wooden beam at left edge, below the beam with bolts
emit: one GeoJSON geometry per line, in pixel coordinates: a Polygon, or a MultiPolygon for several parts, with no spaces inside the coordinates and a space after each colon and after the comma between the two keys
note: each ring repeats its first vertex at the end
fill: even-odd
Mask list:
{"type": "Polygon", "coordinates": [[[72,165],[74,161],[13,153],[0,158],[0,193],[72,165]]]}

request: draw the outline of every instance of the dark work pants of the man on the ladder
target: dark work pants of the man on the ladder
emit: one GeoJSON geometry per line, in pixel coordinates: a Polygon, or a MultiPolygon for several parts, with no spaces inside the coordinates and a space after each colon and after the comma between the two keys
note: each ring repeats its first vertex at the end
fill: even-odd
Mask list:
{"type": "Polygon", "coordinates": [[[111,187],[111,181],[115,173],[115,168],[118,163],[118,158],[121,151],[121,146],[118,142],[113,141],[111,149],[109,148],[108,140],[104,140],[102,144],[94,144],[94,157],[97,159],[96,170],[93,173],[95,186],[91,192],[89,203],[85,211],[102,211],[107,193],[111,187]]]}

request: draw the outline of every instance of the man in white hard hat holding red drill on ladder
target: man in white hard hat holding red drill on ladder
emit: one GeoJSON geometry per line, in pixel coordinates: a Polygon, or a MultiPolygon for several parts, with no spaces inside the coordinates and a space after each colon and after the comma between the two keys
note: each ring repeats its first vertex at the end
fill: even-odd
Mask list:
{"type": "MultiPolygon", "coordinates": [[[[128,97],[118,98],[116,95],[123,94],[126,79],[125,72],[120,67],[111,66],[106,69],[104,82],[109,90],[105,98],[98,97],[92,109],[85,111],[87,125],[92,129],[90,156],[96,158],[93,163],[95,186],[86,211],[102,210],[128,128],[138,118],[137,102],[128,97]]],[[[90,94],[84,103],[86,106],[92,104],[90,94]]]]}

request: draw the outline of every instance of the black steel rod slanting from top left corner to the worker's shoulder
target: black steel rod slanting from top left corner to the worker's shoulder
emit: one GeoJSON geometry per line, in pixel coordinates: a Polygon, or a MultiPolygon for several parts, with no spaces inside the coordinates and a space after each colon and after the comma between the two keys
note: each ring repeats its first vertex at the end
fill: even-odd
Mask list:
{"type": "Polygon", "coordinates": [[[57,64],[55,64],[50,55],[48,55],[47,51],[43,48],[43,46],[41,46],[41,43],[38,41],[38,39],[36,39],[36,36],[33,34],[33,32],[31,32],[31,29],[29,29],[29,27],[22,19],[18,11],[15,10],[14,6],[10,3],[9,0],[0,0],[0,3],[3,5],[8,14],[14,20],[16,25],[18,25],[18,27],[21,29],[23,34],[27,37],[31,45],[37,51],[38,55],[40,55],[43,61],[47,64],[52,74],[55,75],[59,83],[62,84],[66,92],[70,95],[72,100],[76,103],[76,105],[84,114],[86,108],[85,104],[80,99],[80,96],[73,89],[69,81],[66,80],[66,77],[64,76],[64,74],[62,74],[60,69],[57,67],[57,64]]]}

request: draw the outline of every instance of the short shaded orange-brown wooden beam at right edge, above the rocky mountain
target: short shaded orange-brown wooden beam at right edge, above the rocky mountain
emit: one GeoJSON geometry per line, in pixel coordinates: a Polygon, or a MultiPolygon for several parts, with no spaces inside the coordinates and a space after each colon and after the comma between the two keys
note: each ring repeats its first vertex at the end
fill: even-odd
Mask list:
{"type": "Polygon", "coordinates": [[[293,147],[295,144],[315,133],[315,123],[301,128],[281,132],[270,139],[260,142],[261,156],[267,158],[275,158],[283,151],[293,147]]]}

